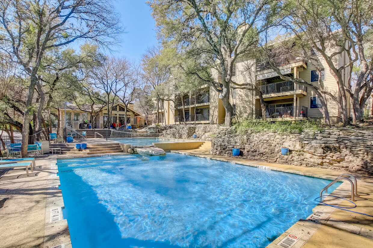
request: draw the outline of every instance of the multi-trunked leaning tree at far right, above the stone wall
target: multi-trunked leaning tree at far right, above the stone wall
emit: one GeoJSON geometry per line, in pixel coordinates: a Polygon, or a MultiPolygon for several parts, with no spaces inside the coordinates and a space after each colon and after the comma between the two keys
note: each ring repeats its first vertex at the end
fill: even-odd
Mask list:
{"type": "Polygon", "coordinates": [[[367,0],[285,1],[281,25],[294,34],[303,47],[322,57],[339,88],[338,96],[325,92],[342,110],[352,99],[352,117],[356,124],[372,92],[372,3],[367,0]]]}

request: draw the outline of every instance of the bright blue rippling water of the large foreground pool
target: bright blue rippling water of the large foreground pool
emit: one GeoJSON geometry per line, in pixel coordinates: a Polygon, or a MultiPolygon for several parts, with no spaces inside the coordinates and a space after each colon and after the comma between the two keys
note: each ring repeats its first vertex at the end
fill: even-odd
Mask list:
{"type": "Polygon", "coordinates": [[[57,165],[73,248],[266,247],[330,182],[178,153],[57,165]]]}

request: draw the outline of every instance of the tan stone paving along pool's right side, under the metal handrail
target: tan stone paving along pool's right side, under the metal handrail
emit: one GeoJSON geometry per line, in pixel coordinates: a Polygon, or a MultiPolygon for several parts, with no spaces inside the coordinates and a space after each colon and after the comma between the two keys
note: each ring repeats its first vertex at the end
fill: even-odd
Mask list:
{"type": "MultiPolygon", "coordinates": [[[[292,174],[298,174],[307,177],[315,177],[333,180],[345,171],[331,171],[319,168],[307,168],[301,166],[281,165],[274,163],[258,162],[244,160],[240,158],[230,158],[217,155],[210,155],[206,151],[172,151],[185,155],[197,156],[200,158],[214,159],[224,162],[236,163],[240,165],[253,166],[260,169],[270,169],[292,174]],[[294,168],[294,169],[289,169],[294,168]],[[313,173],[312,171],[321,171],[323,173],[313,173]]],[[[360,177],[358,181],[358,194],[355,197],[357,207],[351,209],[355,212],[367,213],[373,215],[373,178],[360,177]],[[361,193],[364,192],[364,193],[361,193]],[[366,201],[362,206],[360,201],[366,201]]],[[[333,195],[350,199],[351,184],[344,181],[334,191],[333,195]]],[[[341,198],[325,197],[323,203],[351,207],[350,202],[341,198]]],[[[320,247],[320,248],[365,248],[373,247],[373,217],[362,214],[346,212],[334,207],[325,205],[316,205],[313,214],[299,220],[292,225],[282,235],[276,238],[266,248],[298,248],[298,247],[320,247]],[[315,222],[313,222],[313,221],[315,222]]]]}

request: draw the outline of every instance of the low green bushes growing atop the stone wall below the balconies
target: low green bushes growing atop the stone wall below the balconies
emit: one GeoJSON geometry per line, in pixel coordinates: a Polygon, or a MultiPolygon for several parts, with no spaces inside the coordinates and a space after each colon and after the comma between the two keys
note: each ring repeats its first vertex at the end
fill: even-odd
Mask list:
{"type": "Polygon", "coordinates": [[[245,134],[247,131],[270,131],[274,133],[301,133],[303,130],[318,131],[321,125],[315,121],[254,121],[244,119],[234,124],[236,132],[245,134]]]}

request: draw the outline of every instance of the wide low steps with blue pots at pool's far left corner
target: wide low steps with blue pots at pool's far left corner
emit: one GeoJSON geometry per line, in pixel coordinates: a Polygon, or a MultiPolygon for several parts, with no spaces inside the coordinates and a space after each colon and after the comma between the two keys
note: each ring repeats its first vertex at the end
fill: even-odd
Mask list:
{"type": "MultiPolygon", "coordinates": [[[[75,143],[57,143],[50,144],[50,147],[60,147],[61,153],[71,155],[87,155],[87,154],[100,154],[100,153],[113,153],[123,152],[122,147],[119,143],[99,143],[99,144],[87,144],[87,149],[78,150],[75,148],[75,143]]],[[[57,152],[58,153],[58,152],[57,152]]]]}

